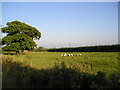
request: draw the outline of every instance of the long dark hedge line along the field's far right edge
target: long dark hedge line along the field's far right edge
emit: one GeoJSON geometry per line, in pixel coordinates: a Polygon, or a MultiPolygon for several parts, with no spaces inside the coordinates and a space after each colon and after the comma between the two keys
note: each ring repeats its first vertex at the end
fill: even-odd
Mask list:
{"type": "Polygon", "coordinates": [[[120,44],[48,49],[48,52],[119,52],[119,51],[120,44]]]}

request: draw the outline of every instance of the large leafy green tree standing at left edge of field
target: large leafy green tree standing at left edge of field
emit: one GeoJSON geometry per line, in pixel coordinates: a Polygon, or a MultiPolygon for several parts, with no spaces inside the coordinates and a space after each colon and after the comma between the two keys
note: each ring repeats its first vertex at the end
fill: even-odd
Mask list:
{"type": "Polygon", "coordinates": [[[34,39],[40,39],[41,33],[35,28],[20,21],[8,22],[7,27],[2,28],[6,36],[2,38],[4,51],[33,50],[36,47],[34,39]]]}

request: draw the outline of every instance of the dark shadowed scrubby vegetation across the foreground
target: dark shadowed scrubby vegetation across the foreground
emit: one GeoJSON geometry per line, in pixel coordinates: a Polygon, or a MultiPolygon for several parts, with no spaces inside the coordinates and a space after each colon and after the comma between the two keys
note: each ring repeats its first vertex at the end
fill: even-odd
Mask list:
{"type": "Polygon", "coordinates": [[[67,68],[65,63],[55,64],[51,69],[36,70],[29,65],[2,61],[2,88],[119,88],[120,77],[113,73],[109,78],[105,73],[96,75],[67,68]]]}

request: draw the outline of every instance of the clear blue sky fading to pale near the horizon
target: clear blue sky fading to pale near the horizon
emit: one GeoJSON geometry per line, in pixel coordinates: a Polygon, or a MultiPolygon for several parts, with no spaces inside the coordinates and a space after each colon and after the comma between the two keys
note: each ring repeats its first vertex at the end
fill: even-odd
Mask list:
{"type": "Polygon", "coordinates": [[[36,27],[46,48],[118,43],[117,2],[3,2],[3,25],[14,20],[36,27]]]}

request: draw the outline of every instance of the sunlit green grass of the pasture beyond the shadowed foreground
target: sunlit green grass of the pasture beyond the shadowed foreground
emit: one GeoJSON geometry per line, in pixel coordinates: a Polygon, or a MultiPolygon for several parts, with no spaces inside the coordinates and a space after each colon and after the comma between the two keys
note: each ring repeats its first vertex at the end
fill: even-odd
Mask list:
{"type": "Polygon", "coordinates": [[[49,69],[55,63],[62,61],[68,67],[80,66],[84,72],[96,73],[101,72],[117,72],[118,67],[118,52],[66,52],[66,53],[81,53],[81,56],[62,57],[64,52],[30,52],[27,55],[7,55],[13,58],[15,62],[21,62],[30,65],[35,69],[49,69]],[[92,66],[92,68],[91,68],[92,66]]]}

